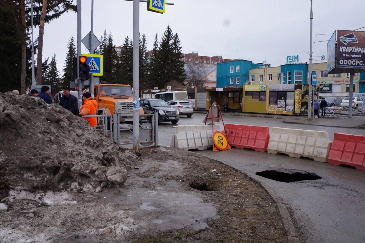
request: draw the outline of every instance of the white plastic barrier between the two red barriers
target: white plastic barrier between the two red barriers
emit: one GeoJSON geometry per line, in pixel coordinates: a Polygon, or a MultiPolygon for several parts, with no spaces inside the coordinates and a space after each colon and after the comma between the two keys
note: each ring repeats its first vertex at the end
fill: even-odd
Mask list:
{"type": "Polygon", "coordinates": [[[273,127],[268,153],[283,153],[290,157],[307,157],[327,162],[331,143],[328,132],[273,127]]]}

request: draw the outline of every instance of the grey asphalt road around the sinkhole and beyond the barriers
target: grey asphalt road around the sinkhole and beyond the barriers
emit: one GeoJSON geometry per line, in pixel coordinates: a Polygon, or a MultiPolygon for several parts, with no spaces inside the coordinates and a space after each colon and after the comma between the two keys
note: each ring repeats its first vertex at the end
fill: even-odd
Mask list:
{"type": "MultiPolygon", "coordinates": [[[[195,113],[191,118],[182,116],[177,125],[202,124],[204,115],[195,113]]],[[[283,119],[245,116],[223,116],[223,119],[225,123],[327,131],[330,140],[335,132],[365,135],[365,129],[284,124],[283,119]]],[[[174,126],[160,123],[160,145],[170,145],[174,126]]],[[[246,149],[203,150],[196,153],[226,163],[259,181],[277,202],[287,205],[301,242],[365,242],[364,171],[246,149]],[[286,183],[255,174],[264,170],[310,172],[322,179],[286,183]]]]}

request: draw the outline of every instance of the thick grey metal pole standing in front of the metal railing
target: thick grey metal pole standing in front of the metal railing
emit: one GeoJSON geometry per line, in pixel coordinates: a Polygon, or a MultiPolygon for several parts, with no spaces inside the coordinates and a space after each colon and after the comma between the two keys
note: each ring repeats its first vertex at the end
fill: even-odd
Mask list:
{"type": "Polygon", "coordinates": [[[139,146],[139,0],[133,1],[133,152],[141,153],[139,146]]]}

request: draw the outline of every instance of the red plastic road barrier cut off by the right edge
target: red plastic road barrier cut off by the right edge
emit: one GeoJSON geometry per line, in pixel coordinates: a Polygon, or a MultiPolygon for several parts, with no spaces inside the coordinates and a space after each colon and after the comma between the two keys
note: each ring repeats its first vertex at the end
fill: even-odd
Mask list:
{"type": "Polygon", "coordinates": [[[336,132],[328,155],[328,163],[350,165],[365,171],[365,136],[336,132]]]}

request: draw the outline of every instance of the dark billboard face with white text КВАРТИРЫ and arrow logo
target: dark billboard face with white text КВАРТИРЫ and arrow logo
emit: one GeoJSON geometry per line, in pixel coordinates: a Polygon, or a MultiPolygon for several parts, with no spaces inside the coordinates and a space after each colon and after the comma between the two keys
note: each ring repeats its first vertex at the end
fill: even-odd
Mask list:
{"type": "Polygon", "coordinates": [[[364,31],[337,30],[336,64],[337,67],[365,69],[364,31]]]}

